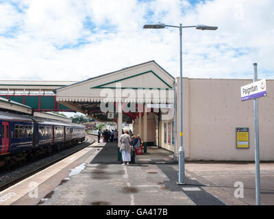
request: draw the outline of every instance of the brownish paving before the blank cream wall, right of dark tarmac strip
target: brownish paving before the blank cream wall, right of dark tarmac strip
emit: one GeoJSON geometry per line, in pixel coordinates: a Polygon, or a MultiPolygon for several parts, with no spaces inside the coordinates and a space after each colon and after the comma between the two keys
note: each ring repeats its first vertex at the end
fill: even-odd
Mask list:
{"type": "MultiPolygon", "coordinates": [[[[247,162],[186,163],[186,176],[203,183],[204,190],[227,205],[256,205],[255,173],[255,164],[247,162]],[[240,185],[242,194],[236,191],[240,185]]],[[[273,162],[260,164],[260,184],[261,205],[274,205],[273,162]]]]}

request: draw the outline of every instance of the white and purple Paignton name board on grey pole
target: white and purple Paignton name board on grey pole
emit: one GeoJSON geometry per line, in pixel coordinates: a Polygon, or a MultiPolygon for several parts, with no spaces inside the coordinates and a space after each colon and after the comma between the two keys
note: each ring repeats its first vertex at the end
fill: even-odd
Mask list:
{"type": "Polygon", "coordinates": [[[240,87],[240,93],[242,101],[249,101],[251,99],[266,96],[266,79],[240,87]]]}

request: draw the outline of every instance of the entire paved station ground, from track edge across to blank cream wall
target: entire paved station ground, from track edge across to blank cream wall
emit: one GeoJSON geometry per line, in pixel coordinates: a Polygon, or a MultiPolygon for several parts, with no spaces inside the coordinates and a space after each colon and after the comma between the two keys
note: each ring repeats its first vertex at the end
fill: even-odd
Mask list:
{"type": "MultiPolygon", "coordinates": [[[[0,205],[255,205],[255,164],[186,162],[177,185],[173,153],[148,146],[122,166],[117,145],[95,143],[0,194],[0,205]],[[29,183],[36,182],[32,197],[29,183]],[[236,192],[242,183],[242,196],[236,192]],[[10,196],[10,194],[13,194],[10,196]]],[[[261,164],[262,205],[274,205],[274,163],[261,164]]]]}

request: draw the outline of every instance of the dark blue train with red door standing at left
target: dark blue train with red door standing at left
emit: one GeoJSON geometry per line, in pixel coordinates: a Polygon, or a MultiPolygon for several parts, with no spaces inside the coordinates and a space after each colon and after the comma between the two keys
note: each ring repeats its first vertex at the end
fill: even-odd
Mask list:
{"type": "Polygon", "coordinates": [[[53,151],[56,147],[60,149],[64,145],[83,142],[85,138],[86,129],[82,125],[0,112],[0,166],[11,155],[25,157],[39,149],[53,151]]]}

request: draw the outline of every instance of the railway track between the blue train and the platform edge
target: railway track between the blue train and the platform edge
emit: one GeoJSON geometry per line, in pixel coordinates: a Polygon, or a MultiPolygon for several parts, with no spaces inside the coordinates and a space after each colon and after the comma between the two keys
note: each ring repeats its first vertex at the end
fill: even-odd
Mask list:
{"type": "Polygon", "coordinates": [[[18,183],[19,181],[22,181],[23,179],[26,179],[27,177],[30,177],[37,172],[40,172],[41,170],[44,170],[45,168],[60,162],[62,159],[69,157],[78,151],[81,151],[90,144],[96,142],[96,140],[97,137],[88,135],[88,138],[86,137],[86,141],[82,144],[78,144],[71,147],[70,149],[66,149],[48,157],[39,159],[38,161],[27,164],[21,168],[16,168],[16,170],[2,174],[0,173],[0,192],[18,183]]]}

